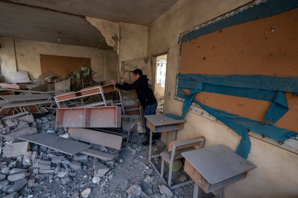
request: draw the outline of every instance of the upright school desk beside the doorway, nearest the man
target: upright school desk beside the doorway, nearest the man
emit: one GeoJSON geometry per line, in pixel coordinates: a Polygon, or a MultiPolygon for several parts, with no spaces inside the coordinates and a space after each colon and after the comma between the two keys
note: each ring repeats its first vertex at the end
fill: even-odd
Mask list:
{"type": "MultiPolygon", "coordinates": [[[[152,134],[159,133],[159,132],[173,131],[173,140],[176,140],[177,130],[182,129],[183,123],[186,121],[184,119],[175,120],[165,115],[145,115],[145,117],[147,118],[146,126],[150,129],[149,157],[148,157],[149,163],[155,169],[156,173],[160,176],[159,170],[151,161],[151,158],[160,156],[160,154],[151,155],[152,134]]],[[[163,182],[166,184],[166,181],[163,181],[163,182]]]]}

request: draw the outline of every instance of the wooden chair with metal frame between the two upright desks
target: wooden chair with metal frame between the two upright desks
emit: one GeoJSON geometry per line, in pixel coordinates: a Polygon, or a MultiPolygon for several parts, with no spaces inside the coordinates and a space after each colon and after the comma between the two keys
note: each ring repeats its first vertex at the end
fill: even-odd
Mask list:
{"type": "Polygon", "coordinates": [[[185,140],[178,140],[173,141],[169,144],[168,151],[161,152],[161,168],[160,168],[160,176],[163,178],[163,171],[164,171],[164,163],[165,161],[169,164],[169,173],[168,173],[168,187],[169,189],[173,190],[175,188],[190,184],[193,182],[193,180],[188,180],[176,185],[171,186],[171,180],[172,180],[172,169],[173,169],[173,161],[175,159],[183,158],[181,155],[182,152],[189,151],[196,149],[195,146],[199,146],[199,148],[203,148],[205,143],[205,137],[204,136],[198,136],[190,139],[185,140]]]}

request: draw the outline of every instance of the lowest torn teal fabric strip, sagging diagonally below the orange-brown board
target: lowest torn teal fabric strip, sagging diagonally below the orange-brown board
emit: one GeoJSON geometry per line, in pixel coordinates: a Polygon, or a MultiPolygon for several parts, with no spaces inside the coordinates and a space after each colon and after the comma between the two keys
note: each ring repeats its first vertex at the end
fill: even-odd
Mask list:
{"type": "MultiPolygon", "coordinates": [[[[177,96],[179,98],[185,99],[183,102],[183,109],[182,109],[182,116],[177,116],[174,114],[165,114],[166,116],[169,116],[174,119],[181,119],[184,117],[186,114],[186,111],[189,109],[190,105],[192,102],[195,102],[199,104],[204,110],[206,110],[208,113],[210,113],[212,116],[218,118],[221,120],[226,126],[234,130],[238,135],[241,136],[240,143],[237,147],[237,154],[240,156],[244,157],[245,159],[247,158],[250,148],[251,148],[251,143],[249,140],[249,137],[246,133],[246,130],[249,129],[251,131],[254,131],[256,133],[262,134],[266,137],[272,138],[276,141],[279,142],[284,142],[287,139],[289,139],[289,136],[294,134],[295,132],[289,131],[287,129],[279,128],[276,126],[268,125],[263,122],[259,122],[256,120],[248,119],[245,117],[241,117],[239,115],[234,115],[216,108],[208,107],[206,105],[201,104],[199,101],[195,100],[194,97],[197,93],[204,90],[204,84],[200,82],[192,82],[190,83],[191,86],[194,87],[194,89],[191,91],[189,95],[185,93],[182,88],[179,86],[179,81],[177,84],[177,96]]],[[[188,85],[190,85],[188,84],[188,85]]],[[[185,88],[184,88],[185,89],[185,88]]],[[[276,92],[274,92],[276,93],[276,92]]],[[[282,106],[287,106],[287,103],[285,103],[284,100],[284,93],[283,92],[278,92],[274,98],[276,99],[275,103],[281,104],[282,106]]],[[[271,115],[273,112],[275,112],[275,107],[272,107],[271,111],[269,111],[271,115]]],[[[279,114],[280,115],[280,114],[279,114]]],[[[275,117],[274,115],[273,117],[275,117]]]]}

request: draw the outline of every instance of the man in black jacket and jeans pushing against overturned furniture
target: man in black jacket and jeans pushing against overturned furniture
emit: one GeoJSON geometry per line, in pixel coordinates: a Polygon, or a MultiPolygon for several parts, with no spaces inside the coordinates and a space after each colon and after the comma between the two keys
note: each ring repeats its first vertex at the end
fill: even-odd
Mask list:
{"type": "MultiPolygon", "coordinates": [[[[133,75],[135,78],[135,82],[132,84],[125,83],[124,78],[121,77],[120,82],[117,83],[115,79],[110,81],[110,84],[122,90],[136,90],[138,98],[142,107],[145,109],[144,115],[154,115],[157,108],[157,101],[153,95],[153,91],[151,89],[151,85],[149,84],[149,79],[147,75],[143,75],[141,69],[135,69],[133,71],[133,75]]],[[[150,129],[146,126],[146,117],[143,119],[143,125],[146,130],[147,141],[142,143],[145,146],[149,145],[150,140],[150,129]]]]}

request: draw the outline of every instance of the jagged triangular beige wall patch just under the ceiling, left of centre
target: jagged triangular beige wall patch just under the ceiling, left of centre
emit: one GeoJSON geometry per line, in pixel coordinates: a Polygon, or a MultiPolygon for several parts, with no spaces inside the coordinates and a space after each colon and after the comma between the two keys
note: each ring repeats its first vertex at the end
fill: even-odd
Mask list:
{"type": "Polygon", "coordinates": [[[120,23],[88,16],[86,16],[86,20],[100,31],[108,46],[113,47],[119,54],[120,23]]]}

